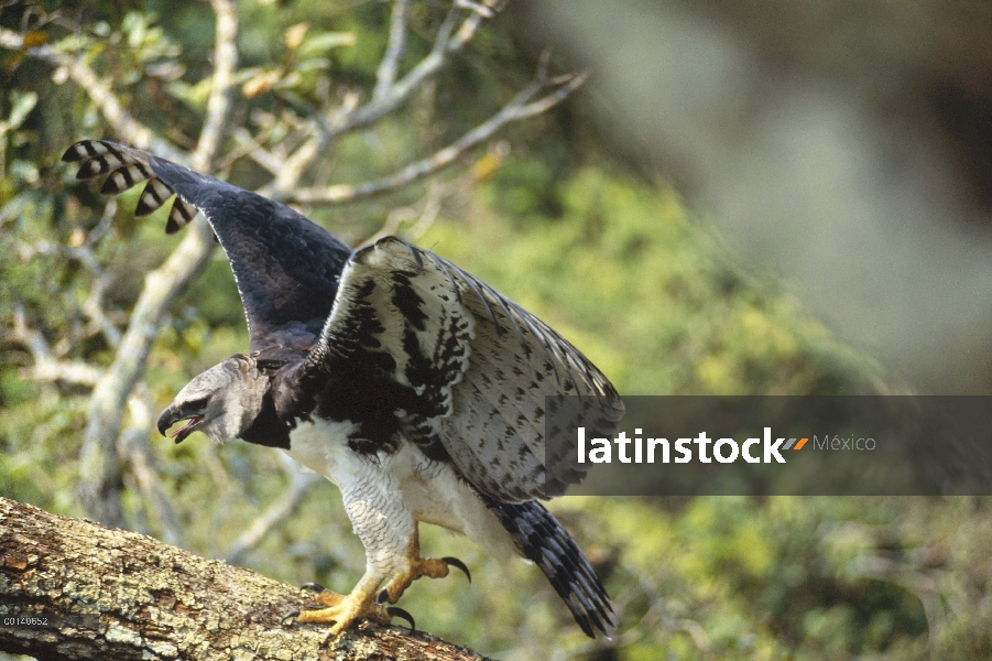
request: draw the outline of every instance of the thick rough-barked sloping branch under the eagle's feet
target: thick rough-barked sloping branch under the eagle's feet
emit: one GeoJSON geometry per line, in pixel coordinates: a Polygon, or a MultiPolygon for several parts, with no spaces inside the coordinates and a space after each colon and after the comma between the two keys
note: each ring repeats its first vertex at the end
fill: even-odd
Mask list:
{"type": "Polygon", "coordinates": [[[254,572],[0,498],[0,651],[42,661],[482,659],[370,622],[325,644],[326,628],[280,619],[316,607],[254,572]]]}

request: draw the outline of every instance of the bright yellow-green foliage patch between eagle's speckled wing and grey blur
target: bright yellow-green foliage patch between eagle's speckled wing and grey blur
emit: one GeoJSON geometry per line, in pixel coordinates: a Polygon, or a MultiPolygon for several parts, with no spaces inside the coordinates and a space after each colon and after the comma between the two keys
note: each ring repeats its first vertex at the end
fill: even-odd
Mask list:
{"type": "Polygon", "coordinates": [[[622,393],[879,388],[874,362],[787,294],[742,274],[664,186],[582,167],[555,180],[548,216],[534,201],[550,177],[534,161],[508,167],[470,219],[437,224],[422,242],[548,319],[622,393]]]}

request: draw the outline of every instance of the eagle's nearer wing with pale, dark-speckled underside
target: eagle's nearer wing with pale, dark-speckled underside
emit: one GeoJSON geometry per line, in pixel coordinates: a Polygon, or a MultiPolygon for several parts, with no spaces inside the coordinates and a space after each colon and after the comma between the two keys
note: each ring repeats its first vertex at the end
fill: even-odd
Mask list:
{"type": "Polygon", "coordinates": [[[544,395],[584,395],[602,433],[623,414],[613,386],[550,327],[395,237],[357,250],[345,267],[302,378],[359,371],[412,392],[396,399],[404,435],[430,456],[443,448],[462,477],[501,501],[560,495],[584,475],[545,470],[544,395]]]}

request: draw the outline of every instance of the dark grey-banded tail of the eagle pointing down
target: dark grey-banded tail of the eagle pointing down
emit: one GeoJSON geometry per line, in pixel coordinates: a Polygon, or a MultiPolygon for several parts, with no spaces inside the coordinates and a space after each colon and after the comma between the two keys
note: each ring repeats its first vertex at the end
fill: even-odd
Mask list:
{"type": "Polygon", "coordinates": [[[513,537],[521,553],[541,567],[586,636],[596,638],[595,629],[599,629],[612,638],[617,616],[610,596],[562,523],[536,500],[490,500],[487,505],[513,537]]]}

